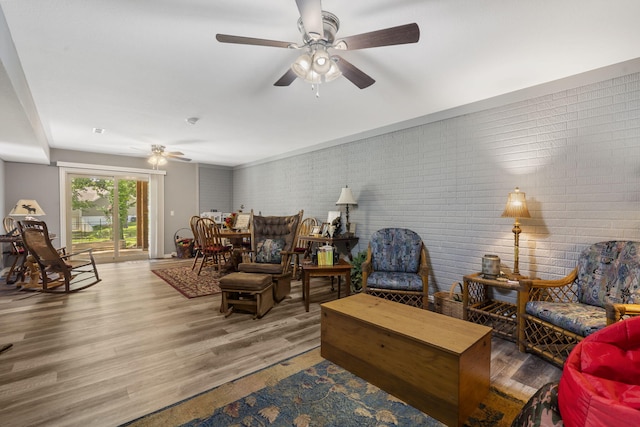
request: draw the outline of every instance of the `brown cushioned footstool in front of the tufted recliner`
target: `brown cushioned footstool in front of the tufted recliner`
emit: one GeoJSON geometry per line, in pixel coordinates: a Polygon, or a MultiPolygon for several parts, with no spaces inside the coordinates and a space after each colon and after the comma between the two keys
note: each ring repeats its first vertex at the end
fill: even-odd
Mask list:
{"type": "Polygon", "coordinates": [[[259,319],[273,307],[272,286],[270,274],[228,274],[220,279],[220,312],[227,317],[234,310],[248,311],[254,319],[259,319]]]}

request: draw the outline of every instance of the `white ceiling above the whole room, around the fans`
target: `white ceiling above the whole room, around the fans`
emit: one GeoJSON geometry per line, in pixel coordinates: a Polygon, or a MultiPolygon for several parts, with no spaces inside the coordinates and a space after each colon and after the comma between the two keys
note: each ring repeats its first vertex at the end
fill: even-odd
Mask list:
{"type": "Polygon", "coordinates": [[[143,156],[163,144],[235,166],[640,57],[638,0],[323,0],[337,38],[411,22],[421,36],[343,52],[376,83],[340,78],[316,99],[299,80],[273,86],[299,51],[215,39],[300,43],[294,0],[0,6],[6,161],[48,163],[49,147],[143,156]]]}

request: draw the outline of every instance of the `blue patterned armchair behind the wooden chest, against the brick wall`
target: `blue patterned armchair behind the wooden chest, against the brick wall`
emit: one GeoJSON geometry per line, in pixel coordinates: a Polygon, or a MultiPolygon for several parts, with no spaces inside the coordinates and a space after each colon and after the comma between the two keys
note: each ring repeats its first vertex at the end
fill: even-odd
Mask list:
{"type": "Polygon", "coordinates": [[[363,292],[426,310],[428,274],[427,255],[418,234],[406,228],[373,233],[362,263],[363,292]]]}

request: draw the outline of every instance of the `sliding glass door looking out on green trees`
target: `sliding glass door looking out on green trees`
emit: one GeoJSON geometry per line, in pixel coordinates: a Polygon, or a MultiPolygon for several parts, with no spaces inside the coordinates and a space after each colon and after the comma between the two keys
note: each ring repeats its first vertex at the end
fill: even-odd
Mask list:
{"type": "Polygon", "coordinates": [[[92,248],[102,262],[149,258],[147,176],[73,173],[66,181],[71,251],[92,248]]]}

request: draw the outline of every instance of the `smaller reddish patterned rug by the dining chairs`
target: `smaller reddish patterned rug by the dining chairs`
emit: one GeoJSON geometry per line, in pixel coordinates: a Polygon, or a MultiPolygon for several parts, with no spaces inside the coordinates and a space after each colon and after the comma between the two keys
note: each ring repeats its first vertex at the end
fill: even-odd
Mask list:
{"type": "Polygon", "coordinates": [[[192,271],[191,266],[181,266],[151,271],[187,298],[219,293],[220,277],[225,273],[205,268],[198,276],[197,270],[197,267],[192,271]]]}

